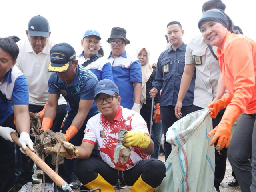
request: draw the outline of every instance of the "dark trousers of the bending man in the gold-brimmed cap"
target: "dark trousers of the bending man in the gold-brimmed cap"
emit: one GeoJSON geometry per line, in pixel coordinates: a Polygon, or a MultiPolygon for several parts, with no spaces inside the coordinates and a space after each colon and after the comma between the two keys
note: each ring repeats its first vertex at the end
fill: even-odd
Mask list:
{"type": "MultiPolygon", "coordinates": [[[[68,117],[66,118],[66,121],[64,123],[64,126],[62,127],[62,133],[64,133],[64,134],[66,133],[66,130],[68,130],[69,126],[72,124],[72,121],[75,116],[76,116],[76,113],[73,110],[70,110],[68,113],[68,117]]],[[[92,116],[86,117],[86,119],[84,120],[84,124],[82,125],[80,130],[78,130],[77,134],[69,141],[74,146],[81,145],[82,140],[84,138],[84,130],[86,128],[87,121],[91,117],[92,116]]],[[[95,146],[91,156],[96,156],[96,157],[98,156],[98,150],[97,150],[96,146],[95,146]]],[[[74,159],[64,158],[64,164],[60,165],[59,169],[58,169],[59,175],[68,183],[70,183],[71,179],[72,179],[73,167],[74,167],[74,159]]]]}

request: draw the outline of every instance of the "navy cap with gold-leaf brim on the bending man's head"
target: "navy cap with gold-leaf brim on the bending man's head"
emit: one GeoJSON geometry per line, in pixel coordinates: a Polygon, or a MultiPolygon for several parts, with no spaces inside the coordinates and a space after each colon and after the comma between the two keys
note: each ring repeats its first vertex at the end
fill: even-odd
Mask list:
{"type": "Polygon", "coordinates": [[[59,43],[52,47],[50,56],[51,61],[48,71],[64,73],[68,70],[72,61],[76,59],[76,52],[70,44],[59,43]]]}

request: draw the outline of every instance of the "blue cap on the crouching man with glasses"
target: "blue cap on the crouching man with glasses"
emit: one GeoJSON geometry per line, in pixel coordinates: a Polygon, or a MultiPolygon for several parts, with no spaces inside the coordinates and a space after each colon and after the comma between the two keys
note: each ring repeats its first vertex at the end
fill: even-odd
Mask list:
{"type": "Polygon", "coordinates": [[[105,93],[108,95],[113,95],[114,93],[119,94],[118,87],[116,84],[110,80],[110,79],[103,79],[98,82],[96,87],[94,88],[94,99],[96,98],[96,95],[100,93],[105,93]]]}

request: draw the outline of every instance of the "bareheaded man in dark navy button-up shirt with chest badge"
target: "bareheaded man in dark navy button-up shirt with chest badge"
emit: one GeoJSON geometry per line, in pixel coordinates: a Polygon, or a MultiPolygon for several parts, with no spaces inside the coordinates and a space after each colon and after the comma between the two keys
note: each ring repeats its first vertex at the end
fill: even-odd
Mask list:
{"type": "MultiPolygon", "coordinates": [[[[160,99],[161,118],[165,134],[170,126],[178,120],[174,114],[180,81],[184,71],[186,45],[182,40],[184,30],[180,22],[172,21],[167,25],[167,36],[171,47],[162,52],[159,56],[156,67],[156,79],[153,81],[153,88],[150,96],[155,97],[162,89],[160,99]]],[[[195,74],[183,100],[182,116],[193,112],[195,74]]],[[[172,145],[164,142],[165,159],[172,151],[172,145]]]]}

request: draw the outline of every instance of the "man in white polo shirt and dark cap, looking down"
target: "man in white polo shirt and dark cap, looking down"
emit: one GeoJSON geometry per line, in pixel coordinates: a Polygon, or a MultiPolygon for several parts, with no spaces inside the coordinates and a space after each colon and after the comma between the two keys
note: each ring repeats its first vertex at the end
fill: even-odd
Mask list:
{"type": "MultiPolygon", "coordinates": [[[[28,81],[29,91],[29,111],[33,113],[41,112],[48,100],[48,79],[51,73],[48,72],[50,62],[50,49],[54,43],[50,40],[50,27],[46,18],[37,15],[28,22],[26,30],[27,39],[17,42],[20,53],[17,58],[16,66],[24,73],[28,81]]],[[[60,126],[65,117],[66,100],[61,96],[58,102],[58,110],[54,119],[52,130],[60,131],[60,126]]],[[[41,112],[43,117],[43,112],[41,112]]],[[[31,137],[34,141],[34,137],[31,137]]],[[[21,154],[21,175],[20,182],[23,185],[21,192],[30,192],[32,187],[33,162],[29,157],[21,154]]],[[[51,180],[46,182],[52,182],[51,180]]],[[[46,184],[48,187],[53,184],[46,184]]]]}

